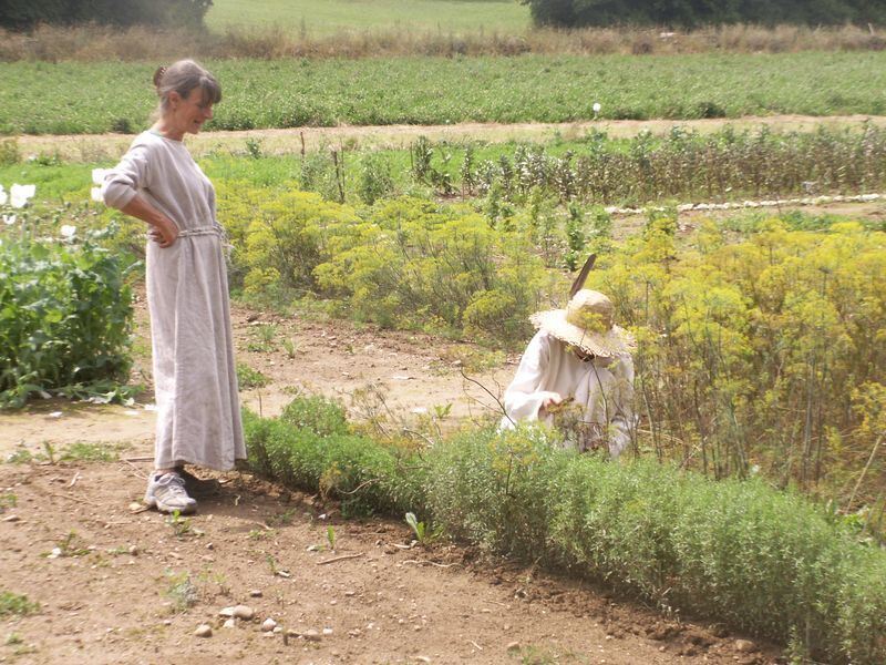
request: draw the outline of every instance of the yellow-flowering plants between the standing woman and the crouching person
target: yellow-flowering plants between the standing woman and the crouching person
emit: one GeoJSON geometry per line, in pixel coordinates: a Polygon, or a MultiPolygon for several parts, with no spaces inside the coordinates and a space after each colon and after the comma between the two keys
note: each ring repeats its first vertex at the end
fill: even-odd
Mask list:
{"type": "Polygon", "coordinates": [[[352,208],[237,186],[219,201],[237,211],[233,283],[254,301],[322,298],[357,320],[508,345],[529,331],[549,282],[532,235],[496,232],[470,206],[399,198],[352,208]]]}

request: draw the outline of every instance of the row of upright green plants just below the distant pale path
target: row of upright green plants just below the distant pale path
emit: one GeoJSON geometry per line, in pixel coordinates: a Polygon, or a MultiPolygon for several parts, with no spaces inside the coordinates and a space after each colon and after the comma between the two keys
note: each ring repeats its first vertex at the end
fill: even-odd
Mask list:
{"type": "MultiPolygon", "coordinates": [[[[590,131],[547,143],[455,143],[420,137],[401,150],[353,142],[282,156],[248,140],[241,154],[200,158],[220,186],[279,186],[339,203],[373,204],[402,194],[486,200],[496,215],[552,197],[584,204],[724,202],[879,192],[886,185],[886,129],[874,123],[812,132],[725,126],[702,134],[680,126],[664,135],[615,139],[590,131]],[[245,156],[249,158],[244,158],[245,156]]],[[[37,182],[52,197],[84,197],[91,165],[53,155],[24,158],[0,141],[0,177],[37,182]]],[[[222,211],[226,214],[226,211],[222,211]]]]}

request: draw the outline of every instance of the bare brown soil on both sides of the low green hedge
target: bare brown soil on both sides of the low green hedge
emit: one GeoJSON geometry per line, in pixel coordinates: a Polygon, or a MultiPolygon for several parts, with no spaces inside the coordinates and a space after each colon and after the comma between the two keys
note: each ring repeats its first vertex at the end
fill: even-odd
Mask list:
{"type": "MultiPolygon", "coordinates": [[[[351,403],[354,390],[370,382],[384,387],[396,416],[390,422],[399,426],[435,405],[452,403],[451,418],[494,406],[453,366],[453,354],[464,351],[457,342],[243,308],[234,317],[238,361],[271,379],[260,399],[256,390],[243,393],[265,415],[298,390],[351,403]],[[276,326],[275,344],[249,350],[262,323],[276,326]],[[292,340],[295,357],[284,339],[292,340]]],[[[146,330],[140,306],[142,346],[146,330]]],[[[513,370],[505,360],[475,376],[494,387],[513,370]]],[[[150,381],[146,358],[137,371],[150,381]]],[[[777,661],[776,648],[739,642],[742,636],[703,620],[664,616],[470,548],[412,545],[403,522],[343,520],[334,504],[248,473],[215,474],[220,489],[202,498],[192,518],[142,511],[154,426],[146,406],[150,391],[131,408],[48,400],[0,416],[3,458],[22,449],[45,452],[47,443],[56,459],[74,442],[125,447],[110,462],[0,464],[0,495],[16,499],[0,513],[0,592],[40,604],[34,614],[0,617],[0,662],[777,661]],[[61,555],[52,556],[53,549],[61,555]],[[237,604],[255,617],[224,627],[219,611],[237,604]],[[267,618],[281,631],[262,632],[267,618]],[[204,623],[213,635],[195,636],[204,623]]]]}

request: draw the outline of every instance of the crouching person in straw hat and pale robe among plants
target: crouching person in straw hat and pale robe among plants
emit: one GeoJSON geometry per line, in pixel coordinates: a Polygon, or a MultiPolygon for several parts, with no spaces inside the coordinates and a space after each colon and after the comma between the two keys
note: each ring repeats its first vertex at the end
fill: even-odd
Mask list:
{"type": "Polygon", "coordinates": [[[502,428],[517,421],[553,422],[555,412],[571,405],[583,430],[579,450],[607,447],[618,457],[635,426],[635,341],[615,325],[611,300],[580,289],[566,309],[539,311],[530,320],[538,332],[505,391],[502,428]]]}

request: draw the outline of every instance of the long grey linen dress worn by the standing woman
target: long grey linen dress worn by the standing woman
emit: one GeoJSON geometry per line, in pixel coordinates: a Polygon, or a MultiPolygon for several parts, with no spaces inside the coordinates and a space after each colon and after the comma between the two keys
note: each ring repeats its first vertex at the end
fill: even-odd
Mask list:
{"type": "Polygon", "coordinates": [[[102,195],[122,208],[138,193],[167,215],[178,239],[147,243],[147,305],[157,432],[154,464],[226,471],[246,458],[222,227],[215,190],[181,141],[136,136],[105,176],[102,195]]]}

